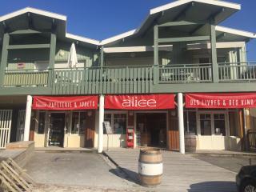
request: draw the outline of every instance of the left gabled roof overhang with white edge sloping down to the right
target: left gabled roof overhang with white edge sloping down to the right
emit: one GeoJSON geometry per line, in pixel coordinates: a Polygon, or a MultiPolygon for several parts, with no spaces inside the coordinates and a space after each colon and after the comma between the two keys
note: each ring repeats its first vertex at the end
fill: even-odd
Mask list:
{"type": "Polygon", "coordinates": [[[15,30],[28,30],[33,25],[33,30],[50,31],[52,26],[56,26],[58,38],[68,42],[79,42],[90,46],[99,46],[100,42],[90,38],[84,38],[78,35],[66,33],[66,16],[54,14],[45,10],[38,10],[26,7],[22,10],[0,17],[0,34],[5,30],[9,32],[15,30]],[[32,23],[32,24],[31,24],[32,23]]]}

